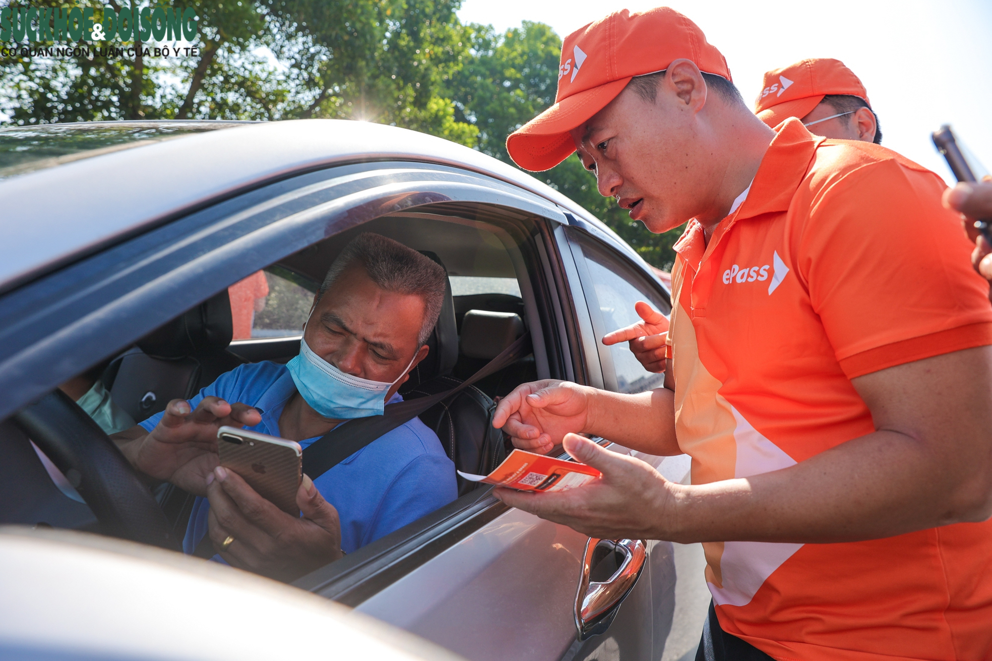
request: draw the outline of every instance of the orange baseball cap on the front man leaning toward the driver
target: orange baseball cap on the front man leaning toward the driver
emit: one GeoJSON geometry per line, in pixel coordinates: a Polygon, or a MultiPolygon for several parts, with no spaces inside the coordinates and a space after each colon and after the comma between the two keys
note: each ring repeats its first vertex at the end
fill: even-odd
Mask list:
{"type": "Polygon", "coordinates": [[[525,170],[554,168],[575,151],[568,131],[606,107],[635,75],[681,58],[731,79],[727,61],[699,27],[669,7],[623,9],[576,30],[561,46],[555,105],[507,138],[510,158],[525,170]]]}

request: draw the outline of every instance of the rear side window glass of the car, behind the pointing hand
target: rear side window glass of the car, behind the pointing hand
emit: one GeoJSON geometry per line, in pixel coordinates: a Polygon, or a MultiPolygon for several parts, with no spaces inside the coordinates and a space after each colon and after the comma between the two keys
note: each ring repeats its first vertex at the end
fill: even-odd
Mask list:
{"type": "MultiPolygon", "coordinates": [[[[597,331],[597,334],[601,336],[640,322],[641,318],[634,311],[634,304],[638,301],[647,301],[655,310],[665,315],[671,313],[669,303],[633,268],[626,266],[618,257],[591,240],[579,240],[579,245],[582,247],[585,266],[589,271],[589,280],[602,318],[603,329],[601,333],[597,331]]],[[[591,305],[593,302],[589,303],[591,305]]],[[[609,351],[613,358],[619,392],[644,392],[661,387],[665,381],[664,374],[649,372],[641,366],[627,342],[614,344],[609,347],[609,351]]]]}

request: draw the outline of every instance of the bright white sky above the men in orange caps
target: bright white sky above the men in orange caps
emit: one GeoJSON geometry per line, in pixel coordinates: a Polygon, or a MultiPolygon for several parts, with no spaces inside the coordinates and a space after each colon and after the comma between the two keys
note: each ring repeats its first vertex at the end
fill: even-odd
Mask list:
{"type": "MultiPolygon", "coordinates": [[[[618,9],[651,0],[464,0],[458,17],[497,30],[521,21],[551,25],[561,37],[618,9]]],[[[882,126],[882,144],[953,181],[930,132],[949,123],[992,167],[992,2],[860,0],[790,2],[771,11],[740,0],[671,0],[723,53],[752,103],[763,73],[806,58],[836,58],[864,82],[882,126]]]]}

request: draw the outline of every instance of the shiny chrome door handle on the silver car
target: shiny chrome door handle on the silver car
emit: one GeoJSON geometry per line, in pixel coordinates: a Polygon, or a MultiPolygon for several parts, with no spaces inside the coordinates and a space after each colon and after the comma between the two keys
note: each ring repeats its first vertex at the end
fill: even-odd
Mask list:
{"type": "Polygon", "coordinates": [[[637,584],[647,558],[643,540],[589,538],[575,595],[579,640],[609,628],[620,603],[637,584]]]}

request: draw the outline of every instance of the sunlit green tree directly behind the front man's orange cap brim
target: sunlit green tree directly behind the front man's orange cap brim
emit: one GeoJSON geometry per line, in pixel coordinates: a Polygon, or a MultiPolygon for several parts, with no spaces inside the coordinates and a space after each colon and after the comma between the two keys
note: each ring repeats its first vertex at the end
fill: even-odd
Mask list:
{"type": "MultiPolygon", "coordinates": [[[[468,29],[473,57],[450,83],[455,116],[479,129],[480,151],[512,164],[506,152],[507,136],[555,102],[561,40],[550,26],[531,21],[502,35],[496,35],[491,26],[470,25],[468,29]]],[[[649,264],[672,268],[672,245],[682,231],[654,234],[642,222],[631,220],[613,198],[599,195],[595,177],[577,156],[547,172],[531,174],[600,218],[649,264]]]]}

